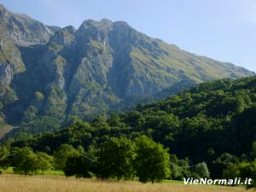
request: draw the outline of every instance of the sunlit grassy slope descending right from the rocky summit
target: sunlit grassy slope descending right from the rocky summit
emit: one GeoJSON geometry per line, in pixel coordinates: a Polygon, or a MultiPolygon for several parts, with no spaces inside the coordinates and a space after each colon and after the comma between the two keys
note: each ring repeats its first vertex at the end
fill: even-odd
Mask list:
{"type": "MultiPolygon", "coordinates": [[[[140,46],[131,52],[131,58],[137,72],[145,74],[148,79],[160,79],[162,83],[165,81],[163,77],[170,78],[175,82],[187,76],[196,83],[202,83],[212,79],[241,78],[245,76],[246,70],[230,63],[214,61],[204,56],[191,54],[175,45],[158,40],[154,41],[152,38],[145,38],[144,40],[148,44],[157,42],[158,46],[153,47],[154,50],[151,50],[151,52],[149,49],[140,46]]],[[[247,72],[247,75],[253,75],[253,73],[247,72]]]]}

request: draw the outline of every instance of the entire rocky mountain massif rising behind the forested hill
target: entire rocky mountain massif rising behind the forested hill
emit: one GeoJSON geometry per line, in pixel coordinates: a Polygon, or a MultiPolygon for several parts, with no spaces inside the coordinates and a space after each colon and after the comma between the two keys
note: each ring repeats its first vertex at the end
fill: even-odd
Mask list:
{"type": "Polygon", "coordinates": [[[212,79],[254,75],[149,38],[124,21],[45,26],[0,7],[0,124],[50,131],[212,79]]]}

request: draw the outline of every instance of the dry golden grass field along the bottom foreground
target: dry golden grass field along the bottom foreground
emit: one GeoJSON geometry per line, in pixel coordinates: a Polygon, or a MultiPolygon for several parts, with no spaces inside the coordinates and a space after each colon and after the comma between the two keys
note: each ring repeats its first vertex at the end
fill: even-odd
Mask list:
{"type": "MultiPolygon", "coordinates": [[[[243,188],[182,183],[104,182],[61,176],[0,176],[0,192],[246,192],[243,188]]],[[[248,191],[247,191],[248,192],[248,191]]],[[[249,190],[252,192],[252,190],[249,190]]]]}

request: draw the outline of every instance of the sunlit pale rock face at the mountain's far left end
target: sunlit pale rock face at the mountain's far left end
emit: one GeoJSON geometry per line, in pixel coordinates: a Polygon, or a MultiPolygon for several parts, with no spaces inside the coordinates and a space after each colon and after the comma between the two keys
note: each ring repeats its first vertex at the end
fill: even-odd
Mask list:
{"type": "Polygon", "coordinates": [[[27,15],[10,12],[0,4],[0,78],[10,84],[14,73],[25,70],[19,46],[46,44],[56,26],[45,26],[27,15]]]}

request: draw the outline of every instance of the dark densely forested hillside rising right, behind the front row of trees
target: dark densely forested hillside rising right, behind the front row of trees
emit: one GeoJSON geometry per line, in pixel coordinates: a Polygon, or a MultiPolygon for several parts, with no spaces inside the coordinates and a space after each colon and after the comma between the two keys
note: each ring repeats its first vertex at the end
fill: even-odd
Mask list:
{"type": "Polygon", "coordinates": [[[20,134],[12,147],[29,146],[53,154],[67,143],[91,152],[111,137],[133,140],[146,135],[190,165],[207,162],[211,177],[220,178],[230,163],[255,159],[255,115],[256,77],[222,79],[159,102],[139,104],[130,112],[113,113],[108,119],[99,116],[91,123],[76,120],[65,129],[37,136],[20,134]]]}

